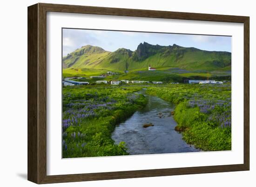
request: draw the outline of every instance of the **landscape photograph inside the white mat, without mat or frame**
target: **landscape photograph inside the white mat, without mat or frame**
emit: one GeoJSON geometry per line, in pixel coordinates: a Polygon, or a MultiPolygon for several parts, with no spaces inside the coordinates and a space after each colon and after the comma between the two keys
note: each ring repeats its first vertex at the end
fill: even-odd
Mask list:
{"type": "Polygon", "coordinates": [[[232,36],[62,28],[61,45],[63,159],[232,150],[232,36]]]}

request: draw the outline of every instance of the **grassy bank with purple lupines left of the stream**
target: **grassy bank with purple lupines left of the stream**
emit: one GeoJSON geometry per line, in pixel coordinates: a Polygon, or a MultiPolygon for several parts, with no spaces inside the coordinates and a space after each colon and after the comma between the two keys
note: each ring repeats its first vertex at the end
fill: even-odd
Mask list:
{"type": "Polygon", "coordinates": [[[115,124],[146,104],[141,88],[81,86],[63,88],[63,158],[128,155],[125,143],[115,145],[115,124]]]}

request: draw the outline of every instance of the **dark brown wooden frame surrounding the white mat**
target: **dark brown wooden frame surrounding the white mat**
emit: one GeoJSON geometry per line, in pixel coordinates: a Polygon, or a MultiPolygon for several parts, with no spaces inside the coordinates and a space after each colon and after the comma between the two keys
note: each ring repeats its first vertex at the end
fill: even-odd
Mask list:
{"type": "Polygon", "coordinates": [[[28,7],[28,180],[38,183],[93,181],[202,174],[249,170],[249,17],[203,13],[181,13],[153,10],[74,6],[38,3],[28,7]],[[90,174],[47,175],[46,111],[46,16],[47,12],[87,13],[164,19],[186,19],[244,24],[244,151],[243,164],[189,168],[165,168],[90,174]]]}

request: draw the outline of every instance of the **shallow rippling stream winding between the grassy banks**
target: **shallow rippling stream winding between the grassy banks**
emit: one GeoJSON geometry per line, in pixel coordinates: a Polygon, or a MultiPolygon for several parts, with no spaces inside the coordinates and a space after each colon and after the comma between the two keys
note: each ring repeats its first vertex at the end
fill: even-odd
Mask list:
{"type": "MultiPolygon", "coordinates": [[[[139,94],[143,94],[143,91],[139,94]]],[[[159,97],[145,96],[148,97],[147,105],[115,127],[112,133],[115,143],[126,142],[130,155],[199,151],[183,141],[182,134],[175,131],[177,123],[170,116],[175,105],[159,97]],[[145,123],[152,123],[154,126],[143,128],[145,123]]]]}

